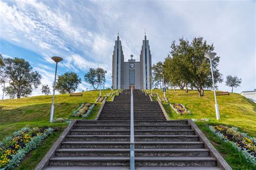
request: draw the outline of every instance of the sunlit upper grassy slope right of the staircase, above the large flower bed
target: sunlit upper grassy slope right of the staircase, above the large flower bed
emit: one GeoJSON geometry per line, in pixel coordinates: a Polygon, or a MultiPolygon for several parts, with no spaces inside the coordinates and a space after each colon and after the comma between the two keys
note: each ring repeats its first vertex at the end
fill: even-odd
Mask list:
{"type": "MultiPolygon", "coordinates": [[[[163,92],[155,90],[163,97],[163,92]]],[[[197,90],[167,90],[166,97],[170,103],[181,103],[191,111],[190,115],[177,115],[164,103],[171,119],[209,118],[208,124],[226,124],[237,126],[242,131],[256,137],[256,104],[244,96],[230,93],[230,96],[217,96],[220,120],[216,120],[213,91],[206,90],[204,97],[199,97],[197,90]]]]}

